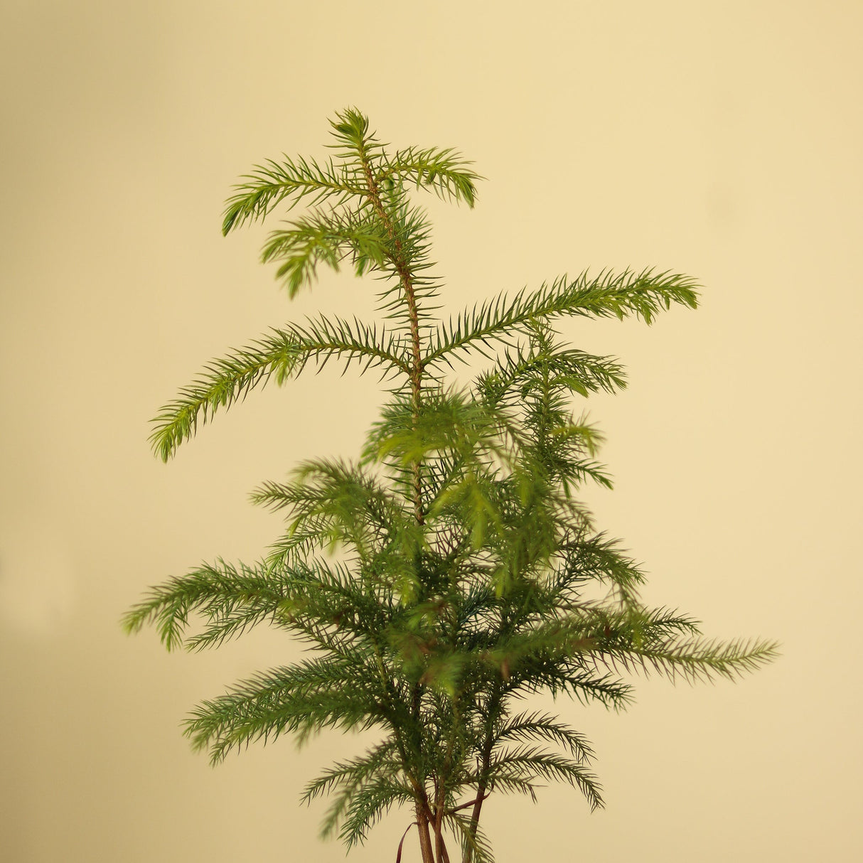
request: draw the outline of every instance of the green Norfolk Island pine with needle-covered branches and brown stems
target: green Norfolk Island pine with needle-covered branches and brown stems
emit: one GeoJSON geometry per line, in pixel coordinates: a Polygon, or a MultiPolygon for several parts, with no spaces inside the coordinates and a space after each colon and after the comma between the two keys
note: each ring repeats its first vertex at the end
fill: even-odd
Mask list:
{"type": "Polygon", "coordinates": [[[216,763],[288,732],[374,728],[376,746],[306,787],[306,802],[331,798],[324,835],[351,847],[407,807],[424,863],[448,863],[452,837],[464,863],[488,863],[480,822],[490,794],[535,798],[554,780],[602,806],[589,742],[525,696],[622,709],[624,672],[734,678],[776,648],[704,639],[688,616],[646,608],[641,570],[576,500],[584,483],[609,480],[595,460],[602,437],[572,413],[572,397],[614,392],[626,378],[613,357],[561,343],[554,322],[650,324],[672,304],[695,308],[695,283],[652,270],[583,273],[438,318],[430,225],[409,192],[473,206],[478,175],[451,149],[391,153],[356,110],[331,126],[327,161],[285,157],[244,178],[224,233],[306,204],[269,236],[263,260],[291,297],[319,266],[349,261],[375,276],[383,322],[312,318],[214,360],[162,409],[151,442],[167,461],[250,390],[330,360],[378,371],[387,403],[356,461],[309,461],[255,491],[287,519],[260,562],[217,560],[173,578],[124,625],[154,625],[168,650],[218,646],[264,623],[293,633],[307,658],[200,704],[186,720],[192,745],[216,763]],[[488,369],[471,385],[447,382],[454,362],[476,357],[488,369]]]}

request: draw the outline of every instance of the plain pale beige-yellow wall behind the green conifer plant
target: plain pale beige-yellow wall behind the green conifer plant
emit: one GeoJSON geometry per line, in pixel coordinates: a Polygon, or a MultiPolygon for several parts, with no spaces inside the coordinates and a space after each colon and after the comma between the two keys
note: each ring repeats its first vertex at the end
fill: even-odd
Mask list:
{"type": "MultiPolygon", "coordinates": [[[[5,0],[0,860],[343,860],[297,797],[361,741],[211,770],[178,729],[295,648],[169,655],[117,619],[202,558],[255,557],[279,523],[249,489],[350,455],[375,416],[375,381],[328,370],[167,467],[146,443],[211,356],[318,307],[368,312],[350,275],[290,305],[256,263],[264,231],[218,232],[239,174],[321,154],[348,104],[488,177],[475,211],[429,199],[453,308],[586,266],[702,280],[700,311],[652,328],[562,327],[631,375],[591,400],[617,488],[589,501],[649,600],[784,645],[736,686],[559,703],[608,809],[562,787],[494,801],[500,863],[859,860],[861,28],[856,0],[5,0]]],[[[352,859],[393,860],[409,820],[352,859]]]]}

